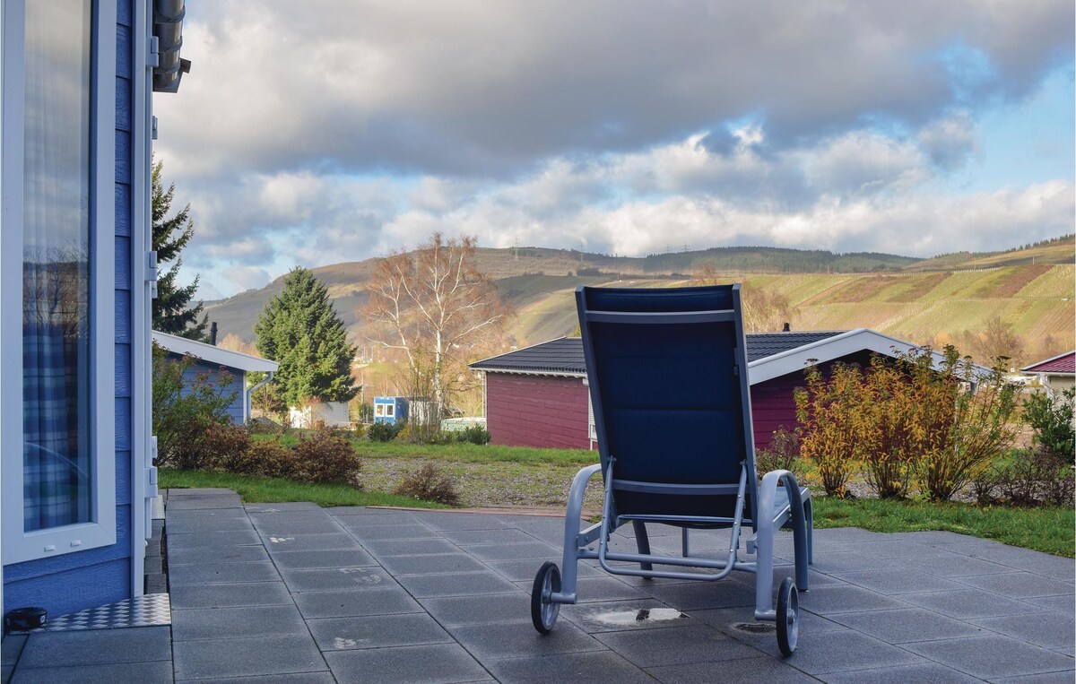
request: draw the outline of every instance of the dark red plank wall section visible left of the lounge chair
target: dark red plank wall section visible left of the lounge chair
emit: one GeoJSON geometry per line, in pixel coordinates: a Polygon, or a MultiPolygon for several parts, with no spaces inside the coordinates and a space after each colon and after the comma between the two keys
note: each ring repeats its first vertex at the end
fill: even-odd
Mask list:
{"type": "Polygon", "coordinates": [[[485,382],[494,444],[590,448],[581,377],[486,373],[485,382]]]}

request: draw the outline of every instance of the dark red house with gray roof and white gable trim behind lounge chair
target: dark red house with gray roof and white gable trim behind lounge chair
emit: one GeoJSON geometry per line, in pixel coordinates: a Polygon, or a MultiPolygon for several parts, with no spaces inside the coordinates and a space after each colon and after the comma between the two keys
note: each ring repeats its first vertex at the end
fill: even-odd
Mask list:
{"type": "MultiPolygon", "coordinates": [[[[894,356],[916,345],[859,328],[848,331],[761,332],[747,336],[754,444],[765,448],[774,430],[796,425],[793,393],[804,368],[837,361],[866,366],[872,354],[894,356]]],[[[935,353],[938,360],[942,356],[935,353]]],[[[594,415],[579,338],[561,338],[476,361],[484,373],[486,429],[494,444],[591,448],[594,415]]]]}

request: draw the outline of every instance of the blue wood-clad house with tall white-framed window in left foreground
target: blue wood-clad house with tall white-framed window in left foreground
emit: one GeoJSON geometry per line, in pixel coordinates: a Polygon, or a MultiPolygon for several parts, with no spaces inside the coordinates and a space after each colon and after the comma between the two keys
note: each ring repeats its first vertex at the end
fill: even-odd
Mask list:
{"type": "Polygon", "coordinates": [[[0,9],[0,603],[51,616],[141,596],[155,91],[182,0],[0,9]],[[156,52],[154,52],[156,51],[156,52]]]}

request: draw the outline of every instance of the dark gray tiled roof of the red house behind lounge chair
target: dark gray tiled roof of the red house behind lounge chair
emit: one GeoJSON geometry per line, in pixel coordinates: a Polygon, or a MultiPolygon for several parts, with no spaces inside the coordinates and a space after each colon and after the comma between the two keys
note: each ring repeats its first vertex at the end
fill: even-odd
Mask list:
{"type": "MultiPolygon", "coordinates": [[[[747,336],[747,360],[774,356],[796,347],[840,334],[841,330],[811,332],[751,332],[747,336]]],[[[475,370],[530,373],[586,373],[583,341],[561,338],[471,364],[475,370]]]]}

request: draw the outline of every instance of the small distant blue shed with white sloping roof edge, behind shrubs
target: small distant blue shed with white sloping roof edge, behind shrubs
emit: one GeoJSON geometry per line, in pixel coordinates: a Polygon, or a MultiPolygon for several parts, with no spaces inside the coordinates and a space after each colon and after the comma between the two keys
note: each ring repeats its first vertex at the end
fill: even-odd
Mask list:
{"type": "Polygon", "coordinates": [[[251,394],[260,385],[260,383],[259,385],[247,383],[246,373],[269,373],[266,381],[270,381],[272,374],[280,369],[280,364],[277,361],[223,350],[158,330],[153,331],[153,341],[168,350],[169,357],[175,361],[183,358],[194,360],[194,364],[184,371],[188,383],[193,383],[196,375],[206,373],[217,387],[217,391],[232,396],[228,415],[236,425],[243,425],[251,417],[251,394]]]}

